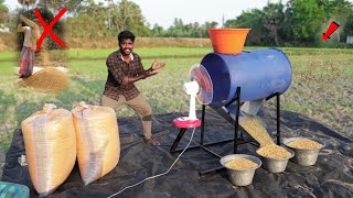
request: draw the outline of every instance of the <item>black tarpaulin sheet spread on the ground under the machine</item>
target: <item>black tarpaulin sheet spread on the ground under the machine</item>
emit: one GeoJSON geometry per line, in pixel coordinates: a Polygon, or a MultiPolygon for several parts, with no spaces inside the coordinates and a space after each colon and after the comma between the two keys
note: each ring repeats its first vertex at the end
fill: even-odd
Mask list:
{"type": "MultiPolygon", "coordinates": [[[[143,143],[141,123],[138,118],[119,119],[121,154],[118,166],[95,183],[84,186],[77,165],[69,177],[50,197],[108,197],[126,186],[133,185],[146,177],[164,173],[179,155],[169,153],[179,129],[172,120],[188,113],[157,114],[153,118],[154,136],[162,145],[150,147],[143,143]]],[[[264,109],[260,117],[267,130],[276,131],[276,112],[264,109]]],[[[200,118],[200,112],[199,112],[200,118]]],[[[179,147],[189,142],[192,130],[188,130],[179,147]]],[[[205,142],[232,139],[234,127],[213,110],[206,110],[205,142]]],[[[318,138],[327,143],[314,166],[302,167],[291,162],[280,174],[263,168],[256,170],[253,184],[235,187],[231,184],[225,169],[201,177],[200,169],[220,166],[220,161],[203,150],[186,151],[168,175],[147,180],[127,189],[116,197],[353,197],[353,139],[344,136],[323,124],[302,114],[281,112],[282,138],[318,138]]],[[[200,140],[196,129],[194,144],[200,140]]],[[[232,154],[233,143],[208,146],[221,156],[232,154]]],[[[239,153],[253,154],[256,147],[239,145],[239,153]]],[[[7,154],[2,180],[23,184],[30,187],[31,197],[38,197],[26,166],[20,166],[18,157],[24,154],[20,130],[13,135],[7,154]]]]}

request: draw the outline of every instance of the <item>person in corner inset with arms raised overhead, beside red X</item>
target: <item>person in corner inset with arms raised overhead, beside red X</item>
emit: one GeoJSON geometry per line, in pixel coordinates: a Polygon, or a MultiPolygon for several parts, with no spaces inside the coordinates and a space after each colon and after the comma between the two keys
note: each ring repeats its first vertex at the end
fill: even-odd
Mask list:
{"type": "Polygon", "coordinates": [[[18,31],[24,33],[19,75],[20,78],[26,78],[33,73],[36,41],[40,38],[40,28],[38,25],[38,19],[31,21],[23,15],[20,15],[20,19],[29,25],[22,26],[22,23],[18,25],[18,31]]]}

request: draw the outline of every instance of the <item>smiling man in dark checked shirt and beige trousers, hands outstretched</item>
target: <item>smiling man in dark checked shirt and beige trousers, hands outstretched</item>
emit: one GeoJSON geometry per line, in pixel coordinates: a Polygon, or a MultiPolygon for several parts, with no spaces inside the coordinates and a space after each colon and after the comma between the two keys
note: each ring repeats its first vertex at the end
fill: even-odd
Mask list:
{"type": "Polygon", "coordinates": [[[142,121],[145,142],[148,145],[159,145],[152,138],[152,109],[145,96],[137,89],[133,82],[149,78],[158,73],[153,65],[148,70],[143,69],[141,58],[133,53],[135,35],[129,31],[122,31],[118,35],[119,50],[107,58],[108,77],[101,97],[101,105],[113,109],[127,105],[131,107],[142,121]]]}

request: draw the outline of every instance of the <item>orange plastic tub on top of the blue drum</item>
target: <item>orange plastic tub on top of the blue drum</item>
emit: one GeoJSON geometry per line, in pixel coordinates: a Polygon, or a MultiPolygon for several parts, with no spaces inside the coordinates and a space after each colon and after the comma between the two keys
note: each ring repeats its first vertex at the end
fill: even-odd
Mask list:
{"type": "Polygon", "coordinates": [[[252,29],[208,29],[213,51],[220,54],[238,54],[252,29]]]}

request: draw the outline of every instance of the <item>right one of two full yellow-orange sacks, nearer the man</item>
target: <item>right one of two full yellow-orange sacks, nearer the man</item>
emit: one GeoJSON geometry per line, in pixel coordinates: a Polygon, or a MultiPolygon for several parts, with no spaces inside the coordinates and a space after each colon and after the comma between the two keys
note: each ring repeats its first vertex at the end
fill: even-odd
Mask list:
{"type": "Polygon", "coordinates": [[[114,109],[81,102],[72,110],[77,140],[77,161],[85,185],[115,168],[120,157],[120,140],[114,109]]]}

